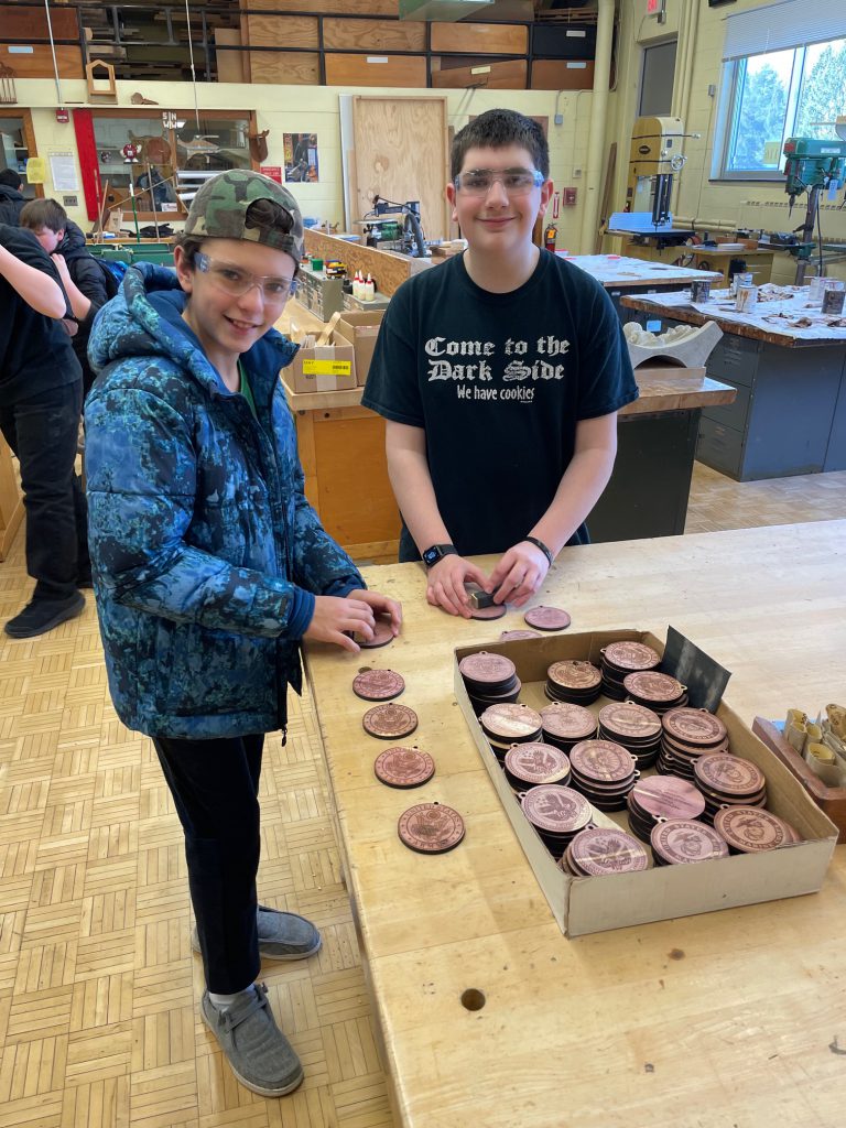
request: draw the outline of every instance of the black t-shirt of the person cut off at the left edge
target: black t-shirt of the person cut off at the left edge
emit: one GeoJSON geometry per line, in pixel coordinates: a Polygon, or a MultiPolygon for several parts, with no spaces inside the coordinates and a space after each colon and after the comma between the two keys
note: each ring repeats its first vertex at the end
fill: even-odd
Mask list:
{"type": "MultiPolygon", "coordinates": [[[[55,265],[32,231],[0,223],[0,245],[61,287],[55,265]]],[[[70,306],[67,316],[73,316],[70,306]]],[[[62,323],[36,312],[0,275],[0,404],[28,399],[81,376],[62,323]]]]}

